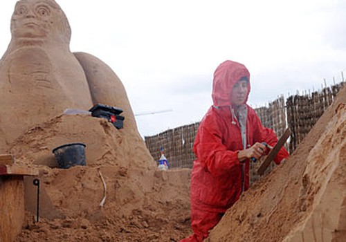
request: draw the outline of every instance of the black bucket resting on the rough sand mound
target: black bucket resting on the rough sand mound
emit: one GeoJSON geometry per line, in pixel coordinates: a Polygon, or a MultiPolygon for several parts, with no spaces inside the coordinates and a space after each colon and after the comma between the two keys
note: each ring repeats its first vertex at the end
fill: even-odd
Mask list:
{"type": "Polygon", "coordinates": [[[71,143],[53,149],[57,165],[63,169],[68,169],[75,165],[86,165],[85,146],[83,143],[71,143]]]}

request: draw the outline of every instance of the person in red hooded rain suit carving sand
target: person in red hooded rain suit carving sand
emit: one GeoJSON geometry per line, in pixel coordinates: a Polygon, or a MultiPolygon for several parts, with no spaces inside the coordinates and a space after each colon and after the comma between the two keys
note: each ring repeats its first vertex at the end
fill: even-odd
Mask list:
{"type": "MultiPolygon", "coordinates": [[[[215,73],[213,105],[204,116],[193,151],[191,177],[191,227],[194,232],[181,240],[203,241],[228,208],[249,187],[251,158],[259,160],[275,145],[273,130],[263,127],[246,101],[250,93],[250,73],[243,64],[226,61],[215,73]]],[[[289,157],[282,147],[274,161],[289,157]]]]}

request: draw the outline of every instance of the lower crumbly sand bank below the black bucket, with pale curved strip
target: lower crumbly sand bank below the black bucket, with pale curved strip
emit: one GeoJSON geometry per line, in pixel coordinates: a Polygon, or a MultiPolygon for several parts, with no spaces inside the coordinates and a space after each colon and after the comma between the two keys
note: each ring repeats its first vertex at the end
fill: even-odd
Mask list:
{"type": "MultiPolygon", "coordinates": [[[[41,218],[27,222],[17,241],[179,241],[189,233],[190,170],[129,171],[114,167],[42,169],[41,218]],[[100,207],[107,183],[107,199],[100,207]],[[46,215],[49,215],[47,218],[46,215]]],[[[30,187],[30,181],[26,184],[30,187]]],[[[27,209],[35,210],[35,188],[27,209]]]]}

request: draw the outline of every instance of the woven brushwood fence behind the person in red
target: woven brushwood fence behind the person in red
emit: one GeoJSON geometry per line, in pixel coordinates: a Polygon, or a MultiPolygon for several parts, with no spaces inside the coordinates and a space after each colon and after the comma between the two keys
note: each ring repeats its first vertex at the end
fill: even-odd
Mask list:
{"type": "MultiPolygon", "coordinates": [[[[292,134],[285,147],[292,153],[333,102],[344,84],[345,82],[341,82],[309,95],[291,95],[286,102],[284,97],[280,96],[268,106],[256,108],[255,111],[264,127],[273,129],[278,137],[282,136],[287,127],[291,129],[292,134]]],[[[145,137],[145,144],[155,160],[160,158],[160,147],[163,147],[170,168],[192,168],[195,159],[192,146],[198,127],[199,122],[196,122],[164,131],[156,136],[148,136],[145,137]]],[[[251,183],[259,179],[259,165],[259,162],[251,162],[251,183]]],[[[272,162],[266,173],[273,167],[275,164],[272,162]]]]}

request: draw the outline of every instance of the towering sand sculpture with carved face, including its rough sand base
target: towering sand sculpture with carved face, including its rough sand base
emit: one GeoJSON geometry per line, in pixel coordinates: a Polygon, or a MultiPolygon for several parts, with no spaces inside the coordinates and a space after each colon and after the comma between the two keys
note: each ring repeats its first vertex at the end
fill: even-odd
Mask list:
{"type": "Polygon", "coordinates": [[[70,52],[70,28],[59,6],[19,1],[11,30],[0,61],[0,149],[14,154],[17,165],[37,167],[41,180],[40,222],[34,226],[28,223],[35,221],[36,191],[33,180],[24,180],[26,221],[15,241],[185,236],[190,170],[158,171],[120,80],[96,57],[70,52]],[[124,128],[89,115],[62,115],[64,109],[88,110],[96,103],[123,109],[124,128]],[[57,168],[52,149],[69,142],[86,144],[86,166],[57,168]]]}

